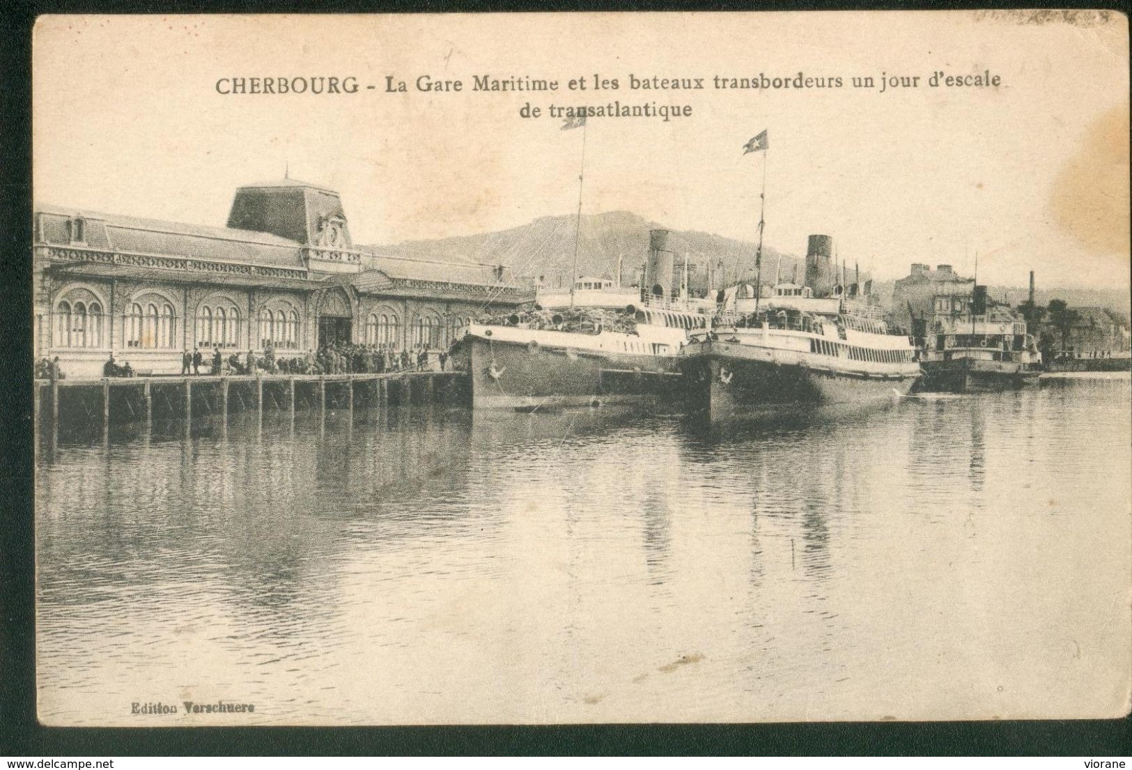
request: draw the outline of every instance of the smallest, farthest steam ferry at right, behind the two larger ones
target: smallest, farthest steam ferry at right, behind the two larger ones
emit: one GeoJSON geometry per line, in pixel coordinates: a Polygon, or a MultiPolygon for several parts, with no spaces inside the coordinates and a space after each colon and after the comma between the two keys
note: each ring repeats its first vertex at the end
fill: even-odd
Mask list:
{"type": "MultiPolygon", "coordinates": [[[[938,294],[931,318],[914,318],[912,333],[924,366],[920,391],[978,393],[1036,385],[1041,353],[1026,322],[987,298],[938,294]]],[[[910,311],[910,308],[909,308],[910,311]]]]}

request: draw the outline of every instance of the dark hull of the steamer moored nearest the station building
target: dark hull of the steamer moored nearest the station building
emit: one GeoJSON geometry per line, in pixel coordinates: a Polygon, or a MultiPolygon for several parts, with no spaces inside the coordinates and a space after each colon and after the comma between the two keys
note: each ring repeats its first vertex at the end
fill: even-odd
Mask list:
{"type": "Polygon", "coordinates": [[[676,360],[468,334],[456,360],[471,378],[473,409],[532,411],[603,404],[652,404],[678,394],[676,360]]]}

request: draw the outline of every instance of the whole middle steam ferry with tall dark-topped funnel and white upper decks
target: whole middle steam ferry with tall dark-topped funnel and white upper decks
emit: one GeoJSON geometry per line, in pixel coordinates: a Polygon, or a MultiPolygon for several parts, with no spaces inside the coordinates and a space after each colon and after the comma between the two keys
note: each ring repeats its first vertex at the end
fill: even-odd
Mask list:
{"type": "Polygon", "coordinates": [[[681,354],[694,409],[714,421],[787,404],[891,402],[920,377],[909,335],[868,301],[868,285],[834,280],[832,239],[811,236],[806,282],[734,302],[681,354]],[[753,308],[751,306],[754,306],[753,308]]]}

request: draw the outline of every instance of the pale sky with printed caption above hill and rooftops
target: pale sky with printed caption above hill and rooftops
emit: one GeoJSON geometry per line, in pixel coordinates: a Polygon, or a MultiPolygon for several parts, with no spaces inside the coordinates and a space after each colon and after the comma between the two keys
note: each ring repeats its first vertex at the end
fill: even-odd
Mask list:
{"type": "Polygon", "coordinates": [[[223,225],[235,188],[338,190],[353,240],[392,243],[582,211],[839,255],[880,279],[912,262],[979,281],[1129,285],[1129,41],[1110,15],[967,11],[491,16],[48,16],[34,36],[36,200],[223,225]],[[919,77],[880,91],[880,76],[919,77]],[[929,87],[928,76],[1001,78],[929,87]],[[713,76],[841,77],[719,91],[713,76]],[[569,91],[594,75],[617,91],[569,91]],[[700,91],[629,88],[700,77],[700,91]],[[418,77],[460,79],[421,92],[418,77]],[[475,75],[558,79],[481,93],[475,75]],[[354,94],[220,94],[231,77],[354,77],[354,94]],[[873,88],[852,77],[873,77],[873,88]],[[386,77],[408,93],[387,93],[386,77]],[[368,88],[367,86],[374,86],[368,88]],[[689,105],[592,118],[548,106],[689,105]],[[520,109],[542,109],[524,119],[520,109]],[[766,130],[770,148],[744,155],[766,130]],[[584,163],[582,157],[583,138],[584,163]],[[764,169],[765,164],[765,169],[764,169]]]}

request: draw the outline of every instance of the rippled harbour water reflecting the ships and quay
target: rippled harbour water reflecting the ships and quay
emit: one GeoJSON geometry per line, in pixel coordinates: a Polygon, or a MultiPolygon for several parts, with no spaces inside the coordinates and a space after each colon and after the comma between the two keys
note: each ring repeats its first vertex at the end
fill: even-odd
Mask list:
{"type": "Polygon", "coordinates": [[[65,437],[36,481],[41,718],[1115,713],[1130,419],[1125,377],[730,430],[359,410],[65,437]],[[221,699],[256,711],[130,716],[221,699]]]}

